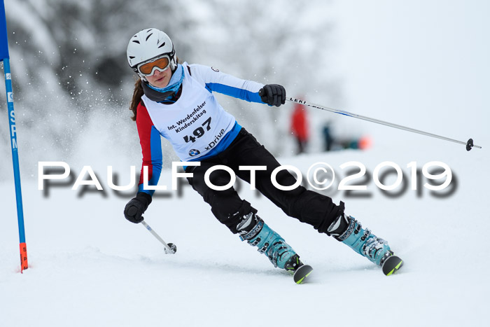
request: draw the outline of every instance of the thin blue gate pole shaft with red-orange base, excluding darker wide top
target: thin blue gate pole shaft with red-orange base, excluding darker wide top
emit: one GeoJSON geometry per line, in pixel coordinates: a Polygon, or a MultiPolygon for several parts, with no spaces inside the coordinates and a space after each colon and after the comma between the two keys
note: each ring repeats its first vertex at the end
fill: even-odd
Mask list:
{"type": "Polygon", "coordinates": [[[17,127],[15,125],[15,111],[13,110],[12,75],[10,74],[10,62],[8,58],[3,59],[3,72],[5,74],[5,88],[7,92],[8,123],[10,125],[10,147],[12,149],[15,199],[17,201],[17,218],[19,223],[20,272],[22,272],[22,270],[27,269],[27,246],[25,244],[24,210],[22,209],[22,189],[20,187],[17,127]]]}

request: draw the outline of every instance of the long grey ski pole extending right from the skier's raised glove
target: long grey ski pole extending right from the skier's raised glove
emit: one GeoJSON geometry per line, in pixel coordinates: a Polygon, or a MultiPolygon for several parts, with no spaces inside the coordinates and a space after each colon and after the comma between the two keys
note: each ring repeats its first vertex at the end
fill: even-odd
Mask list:
{"type": "Polygon", "coordinates": [[[422,135],[426,135],[428,137],[435,137],[437,139],[443,139],[445,141],[451,141],[451,142],[458,143],[458,144],[464,144],[466,146],[466,150],[467,151],[470,151],[471,148],[473,148],[473,147],[475,147],[475,148],[482,148],[481,146],[475,146],[475,144],[473,144],[473,139],[468,139],[468,141],[466,141],[466,142],[464,142],[464,141],[458,141],[456,139],[449,139],[449,137],[442,137],[442,136],[437,135],[437,134],[423,132],[421,130],[415,130],[414,128],[405,127],[405,126],[397,125],[397,124],[393,124],[393,123],[388,123],[388,122],[385,122],[383,120],[379,120],[379,119],[375,119],[375,118],[370,118],[370,117],[366,117],[366,116],[360,116],[360,115],[358,115],[356,113],[349,113],[348,111],[344,111],[344,110],[332,109],[332,108],[328,108],[327,106],[320,106],[318,104],[311,104],[311,103],[306,102],[304,100],[296,99],[296,98],[293,98],[293,97],[286,97],[286,100],[287,101],[290,101],[290,102],[295,102],[295,103],[298,103],[298,104],[304,104],[304,106],[311,106],[311,108],[316,108],[316,109],[321,109],[321,110],[325,110],[325,111],[330,111],[332,113],[339,113],[340,115],[349,116],[349,117],[353,117],[353,118],[358,118],[358,119],[362,119],[362,120],[367,120],[367,121],[369,121],[371,123],[377,123],[377,124],[381,124],[381,125],[385,125],[385,126],[389,126],[389,127],[394,127],[394,128],[398,128],[399,130],[406,130],[407,132],[422,134],[422,135]]]}

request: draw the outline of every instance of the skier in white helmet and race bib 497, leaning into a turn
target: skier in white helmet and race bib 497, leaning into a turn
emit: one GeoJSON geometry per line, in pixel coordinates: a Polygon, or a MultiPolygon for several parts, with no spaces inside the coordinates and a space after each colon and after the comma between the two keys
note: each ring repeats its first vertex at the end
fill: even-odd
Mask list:
{"type": "MultiPolygon", "coordinates": [[[[302,186],[279,190],[271,182],[272,171],[280,164],[252,134],[241,127],[235,117],[223,110],[213,92],[237,97],[248,102],[281,106],[286,91],[281,85],[262,85],[223,74],[218,69],[200,64],[180,64],[174,45],[164,32],[151,28],[134,34],[127,46],[127,61],[139,75],[130,109],[137,123],[143,152],[143,167],[148,167],[148,185],[155,186],[162,169],[160,136],[169,140],[183,162],[188,165],[188,181],[218,221],[242,241],[257,246],[274,267],[295,272],[299,284],[311,272],[309,265],[284,239],[269,228],[249,202],[242,200],[233,187],[214,190],[204,181],[207,169],[215,165],[230,167],[239,178],[250,183],[255,173],[255,187],[288,216],[312,225],[318,232],[331,235],[354,251],[381,265],[385,274],[398,270],[402,260],[393,256],[390,247],[379,237],[362,228],[360,223],[344,214],[344,203],[336,205],[326,197],[302,186]],[[239,166],[266,166],[255,172],[239,166]],[[388,260],[389,259],[389,260],[388,260]],[[389,265],[388,265],[389,262],[389,265]]],[[[142,214],[151,203],[154,190],[145,190],[143,167],[139,190],[124,209],[132,223],[143,221],[142,214]]],[[[225,186],[230,174],[216,170],[209,177],[214,186],[225,186]]],[[[276,181],[282,186],[295,184],[295,177],[281,170],[276,181]]]]}

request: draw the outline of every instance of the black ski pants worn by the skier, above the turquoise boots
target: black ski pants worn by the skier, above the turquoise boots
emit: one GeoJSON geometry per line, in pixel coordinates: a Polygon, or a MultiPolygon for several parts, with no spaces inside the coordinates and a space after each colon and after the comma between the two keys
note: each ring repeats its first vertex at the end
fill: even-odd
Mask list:
{"type": "MultiPolygon", "coordinates": [[[[250,183],[251,172],[239,170],[239,166],[267,166],[267,170],[255,171],[255,188],[288,216],[297,218],[303,223],[309,223],[318,232],[327,232],[332,221],[344,211],[342,202],[337,206],[330,197],[307,190],[303,186],[298,186],[293,190],[276,188],[272,184],[271,174],[276,167],[280,166],[279,162],[274,155],[258,143],[252,134],[242,128],[225,151],[202,160],[200,166],[188,166],[186,169],[186,172],[193,173],[193,177],[188,178],[190,185],[211,206],[211,211],[218,221],[225,224],[235,234],[241,218],[251,211],[256,213],[257,210],[251,207],[249,202],[242,200],[232,186],[227,190],[213,190],[207,186],[204,182],[204,174],[214,165],[230,167],[237,177],[248,183],[250,183]]],[[[225,186],[230,182],[230,174],[223,169],[218,169],[210,174],[209,179],[215,186],[225,186]]],[[[290,172],[283,169],[276,175],[276,181],[281,186],[291,186],[296,179],[290,172]]]]}

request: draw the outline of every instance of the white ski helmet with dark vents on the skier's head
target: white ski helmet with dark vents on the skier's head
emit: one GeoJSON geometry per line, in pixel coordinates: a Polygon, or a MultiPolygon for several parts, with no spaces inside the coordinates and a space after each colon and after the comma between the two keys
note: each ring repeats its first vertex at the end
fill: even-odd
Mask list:
{"type": "MultiPolygon", "coordinates": [[[[174,43],[160,29],[144,29],[134,34],[127,45],[126,57],[130,67],[139,74],[138,65],[160,55],[169,55],[170,69],[177,67],[174,43]]],[[[139,74],[141,76],[141,74],[139,74]]],[[[144,76],[141,76],[144,78],[144,76]]]]}

